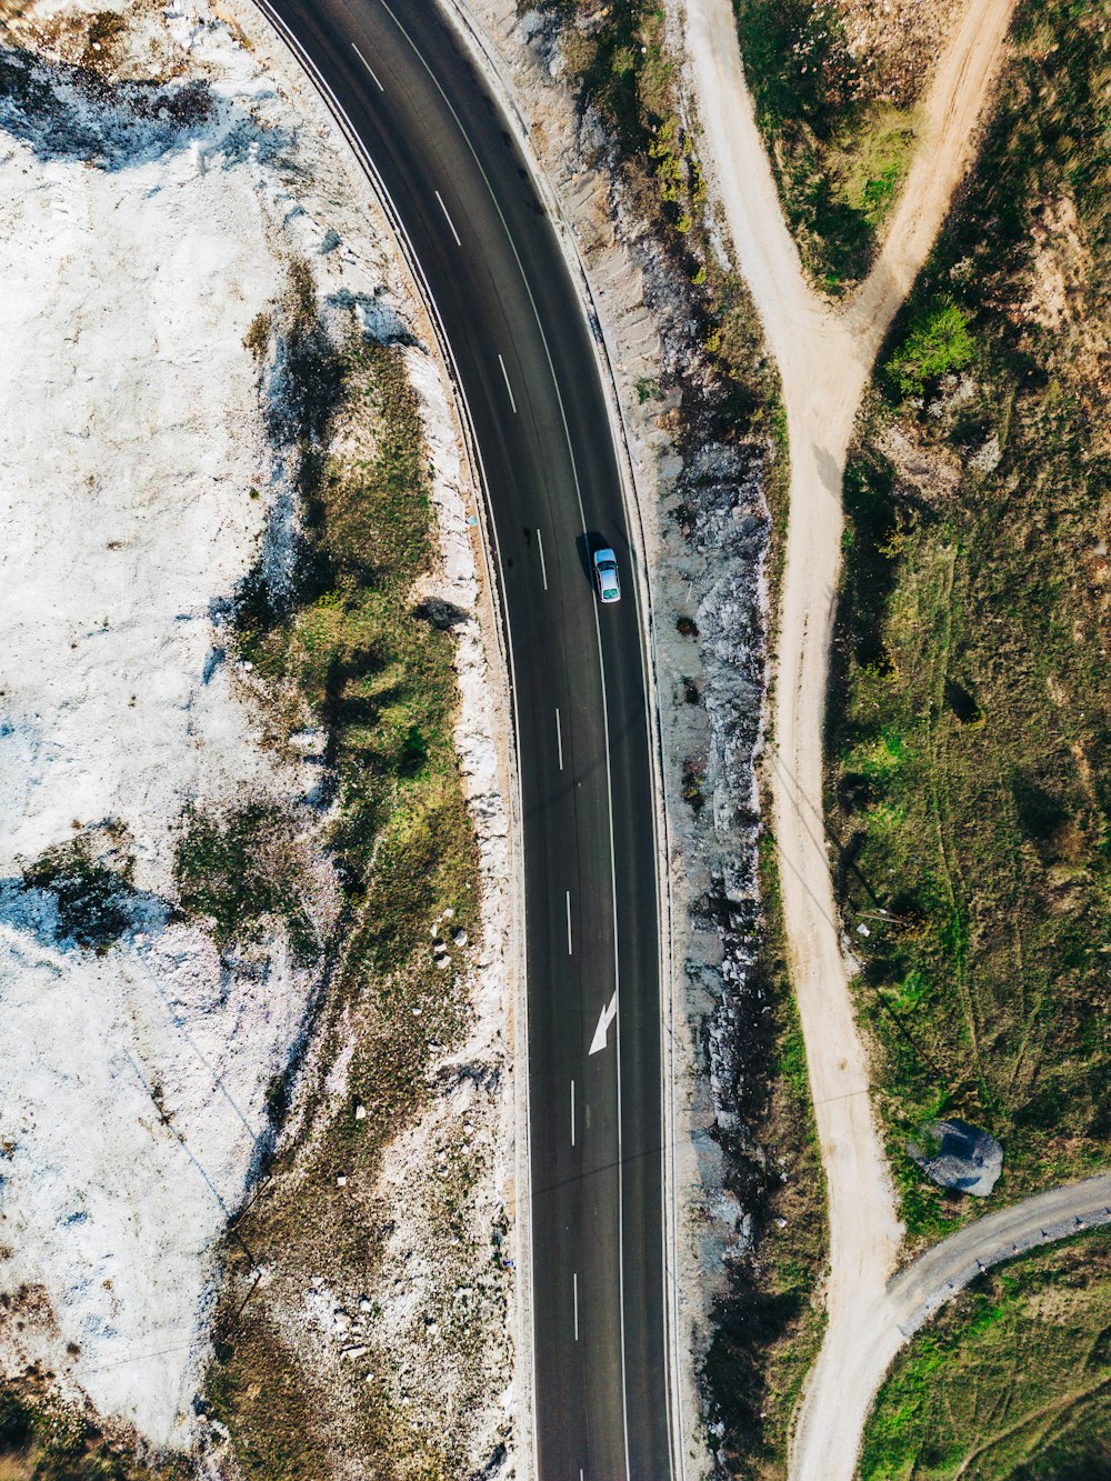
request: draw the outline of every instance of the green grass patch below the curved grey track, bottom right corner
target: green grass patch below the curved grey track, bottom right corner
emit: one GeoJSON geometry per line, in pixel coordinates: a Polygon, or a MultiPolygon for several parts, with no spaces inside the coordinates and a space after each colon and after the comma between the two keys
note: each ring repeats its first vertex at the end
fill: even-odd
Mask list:
{"type": "Polygon", "coordinates": [[[864,1481],[1111,1474],[1111,1235],[981,1278],[911,1339],[864,1437],[864,1481]]]}

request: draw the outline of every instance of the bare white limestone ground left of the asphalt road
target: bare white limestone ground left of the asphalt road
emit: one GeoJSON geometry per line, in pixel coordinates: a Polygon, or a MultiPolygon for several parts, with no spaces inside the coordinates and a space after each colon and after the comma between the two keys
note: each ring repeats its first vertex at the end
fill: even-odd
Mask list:
{"type": "MultiPolygon", "coordinates": [[[[378,335],[419,314],[277,47],[244,46],[201,3],[117,6],[126,33],[102,47],[104,73],[157,77],[167,96],[151,108],[150,89],[95,96],[76,78],[93,9],[105,0],[28,6],[9,34],[40,61],[16,56],[0,93],[0,1371],[39,1364],[64,1395],[187,1447],[212,1250],[316,982],[277,927],[221,963],[173,917],[185,806],[287,810],[313,862],[307,909],[321,924],[335,909],[313,847],[318,769],[264,746],[255,681],[221,632],[283,492],[244,336],[295,255],[324,302],[357,295],[378,335]],[[198,80],[209,107],[188,104],[198,80]],[[129,921],[99,951],[22,881],[73,840],[105,863],[133,857],[129,921]]],[[[434,363],[407,358],[449,468],[434,363]]],[[[437,489],[444,570],[473,586],[462,486],[456,458],[437,489]]],[[[476,624],[459,671],[498,942],[501,751],[476,624]]],[[[504,1026],[504,973],[496,951],[474,967],[483,1043],[504,1026]]],[[[511,1143],[501,1096],[484,1136],[496,1200],[511,1143]]]]}

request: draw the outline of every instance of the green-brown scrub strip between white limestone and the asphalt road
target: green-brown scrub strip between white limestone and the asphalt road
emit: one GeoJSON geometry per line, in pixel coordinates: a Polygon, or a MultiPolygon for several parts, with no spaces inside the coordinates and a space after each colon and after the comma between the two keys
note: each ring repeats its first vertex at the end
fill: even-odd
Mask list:
{"type": "MultiPolygon", "coordinates": [[[[436,1056],[461,1041],[468,1019],[465,977],[433,951],[444,920],[444,935],[474,940],[478,877],[452,732],[453,644],[434,621],[443,613],[415,595],[433,563],[428,453],[401,351],[366,342],[354,326],[344,338],[302,265],[256,339],[271,440],[293,469],[299,509],[286,579],[276,581],[274,546],[243,585],[236,643],[259,698],[270,696],[276,742],[308,736],[318,749],[342,900],[290,1129],[237,1226],[267,1280],[258,1286],[241,1244],[228,1243],[207,1397],[247,1478],[316,1474],[321,1445],[373,1456],[382,1477],[455,1474],[458,1437],[431,1413],[397,1408],[375,1339],[381,1312],[360,1318],[361,1361],[326,1383],[289,1327],[313,1272],[323,1299],[360,1309],[390,1219],[373,1198],[384,1146],[422,1108],[436,1056]],[[338,1057],[342,1093],[327,1081],[338,1057]]],[[[196,838],[194,823],[185,860],[196,838]]],[[[256,889],[249,862],[216,872],[247,896],[256,889]]],[[[250,899],[222,908],[249,911],[250,899]]],[[[273,1087],[276,1133],[292,1091],[290,1077],[273,1087]]],[[[477,1167],[450,1171],[443,1231],[467,1244],[461,1210],[477,1167]]],[[[483,1321],[505,1315],[493,1247],[487,1265],[483,1321]]],[[[462,1309],[441,1321],[474,1380],[481,1352],[465,1328],[477,1323],[462,1309]]]]}

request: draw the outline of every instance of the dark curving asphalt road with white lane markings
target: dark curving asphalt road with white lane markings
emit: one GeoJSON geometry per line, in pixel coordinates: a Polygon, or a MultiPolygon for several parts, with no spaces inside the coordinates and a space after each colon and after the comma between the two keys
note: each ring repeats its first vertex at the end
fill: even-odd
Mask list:
{"type": "Polygon", "coordinates": [[[524,823],[538,1468],[671,1477],[659,923],[630,544],[590,333],[499,110],[433,0],[273,0],[373,160],[484,468],[524,823]],[[587,546],[613,545],[601,609],[587,546]],[[590,1053],[619,992],[606,1047],[590,1053]]]}

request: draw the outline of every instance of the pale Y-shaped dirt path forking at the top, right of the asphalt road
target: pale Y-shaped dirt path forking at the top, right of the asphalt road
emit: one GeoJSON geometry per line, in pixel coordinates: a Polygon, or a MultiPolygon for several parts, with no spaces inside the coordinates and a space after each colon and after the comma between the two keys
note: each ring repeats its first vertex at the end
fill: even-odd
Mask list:
{"type": "Polygon", "coordinates": [[[741,67],[730,0],[677,0],[702,158],[779,364],[791,456],[773,712],[773,823],[787,948],[830,1194],[830,1324],[791,1474],[849,1481],[874,1385],[858,1379],[902,1229],[871,1112],[822,816],[822,721],[841,545],[841,477],[873,361],[972,154],[1015,0],[972,0],[923,105],[918,150],[877,265],[843,311],[810,290],[741,67]],[[850,1423],[846,1417],[853,1416],[850,1423]],[[853,1428],[855,1426],[855,1428],[853,1428]]]}

